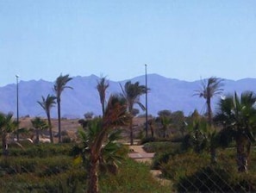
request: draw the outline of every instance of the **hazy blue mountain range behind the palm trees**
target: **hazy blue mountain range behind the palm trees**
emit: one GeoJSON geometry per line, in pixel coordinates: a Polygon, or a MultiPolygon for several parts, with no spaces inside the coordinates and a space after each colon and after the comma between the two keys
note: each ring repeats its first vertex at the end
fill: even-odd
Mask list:
{"type": "MultiPolygon", "coordinates": [[[[91,75],[88,77],[73,77],[68,85],[73,90],[66,89],[61,96],[61,115],[69,118],[81,118],[86,112],[93,112],[101,115],[101,104],[96,89],[99,77],[91,75]]],[[[128,80],[119,82],[109,80],[107,97],[111,93],[121,93],[120,84],[125,84],[128,80]]],[[[131,81],[139,81],[145,84],[145,76],[132,78],[131,81]]],[[[182,110],[185,115],[189,115],[194,109],[200,113],[205,112],[205,101],[203,98],[193,96],[195,90],[200,90],[202,80],[187,82],[173,78],[165,78],[157,74],[147,75],[148,92],[148,114],[157,115],[159,110],[168,109],[173,111],[182,110]]],[[[256,91],[256,78],[244,78],[237,81],[224,80],[223,96],[238,93],[245,90],[256,91]]],[[[53,82],[45,80],[21,81],[19,83],[19,111],[20,115],[45,116],[41,106],[36,103],[41,101],[41,96],[53,94],[53,82]]],[[[213,100],[213,109],[216,107],[220,96],[213,100]]],[[[140,102],[145,104],[145,96],[140,97],[140,102]]],[[[9,111],[16,115],[16,84],[8,84],[0,87],[0,111],[9,111]]],[[[52,109],[52,116],[57,117],[57,108],[52,109]]],[[[144,114],[140,110],[140,114],[144,114]]]]}

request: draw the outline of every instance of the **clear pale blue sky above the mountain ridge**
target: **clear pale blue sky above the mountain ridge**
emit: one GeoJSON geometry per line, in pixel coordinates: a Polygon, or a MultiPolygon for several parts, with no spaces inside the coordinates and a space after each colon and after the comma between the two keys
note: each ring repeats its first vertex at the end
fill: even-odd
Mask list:
{"type": "Polygon", "coordinates": [[[0,86],[62,72],[256,78],[255,0],[0,0],[0,86]]]}

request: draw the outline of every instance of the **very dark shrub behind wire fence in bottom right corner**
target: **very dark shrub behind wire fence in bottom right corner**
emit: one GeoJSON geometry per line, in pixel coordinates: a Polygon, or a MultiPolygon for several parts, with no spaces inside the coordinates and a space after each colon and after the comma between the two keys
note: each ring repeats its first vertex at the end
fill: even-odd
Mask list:
{"type": "Polygon", "coordinates": [[[203,167],[190,176],[181,177],[178,192],[255,192],[256,177],[230,172],[219,165],[203,167]]]}

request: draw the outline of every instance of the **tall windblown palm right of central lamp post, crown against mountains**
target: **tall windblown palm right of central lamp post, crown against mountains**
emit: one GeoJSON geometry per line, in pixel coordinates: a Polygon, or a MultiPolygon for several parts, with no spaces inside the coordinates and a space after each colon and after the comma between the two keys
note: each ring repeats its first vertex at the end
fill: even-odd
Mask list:
{"type": "Polygon", "coordinates": [[[195,95],[203,97],[206,100],[209,125],[212,124],[211,98],[215,95],[222,94],[222,86],[224,85],[222,82],[223,79],[221,78],[211,77],[202,81],[202,88],[200,90],[195,90],[195,95]]]}

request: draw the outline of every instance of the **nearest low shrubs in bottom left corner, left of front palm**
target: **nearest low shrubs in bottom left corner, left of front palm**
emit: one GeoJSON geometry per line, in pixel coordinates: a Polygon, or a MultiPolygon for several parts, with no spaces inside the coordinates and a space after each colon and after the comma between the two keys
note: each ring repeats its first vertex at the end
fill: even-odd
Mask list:
{"type": "Polygon", "coordinates": [[[86,171],[72,168],[50,177],[31,174],[2,177],[0,192],[84,192],[86,176],[86,171]]]}

